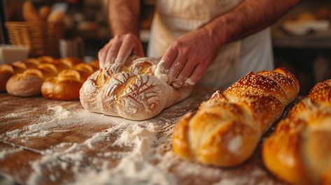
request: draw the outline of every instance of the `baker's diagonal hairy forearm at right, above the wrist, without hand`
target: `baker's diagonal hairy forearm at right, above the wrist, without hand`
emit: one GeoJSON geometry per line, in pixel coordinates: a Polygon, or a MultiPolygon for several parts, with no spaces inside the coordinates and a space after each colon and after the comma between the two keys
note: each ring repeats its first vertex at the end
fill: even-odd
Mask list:
{"type": "Polygon", "coordinates": [[[221,47],[274,24],[300,0],[244,0],[234,10],[204,25],[221,47]]]}

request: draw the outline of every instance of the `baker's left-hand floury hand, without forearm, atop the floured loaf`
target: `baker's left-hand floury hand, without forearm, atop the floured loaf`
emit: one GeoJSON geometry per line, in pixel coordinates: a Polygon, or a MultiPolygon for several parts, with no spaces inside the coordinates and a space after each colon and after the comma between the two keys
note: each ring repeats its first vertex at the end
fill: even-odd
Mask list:
{"type": "Polygon", "coordinates": [[[139,38],[134,34],[116,35],[99,50],[99,66],[103,68],[113,63],[122,66],[131,54],[144,56],[139,38]]]}

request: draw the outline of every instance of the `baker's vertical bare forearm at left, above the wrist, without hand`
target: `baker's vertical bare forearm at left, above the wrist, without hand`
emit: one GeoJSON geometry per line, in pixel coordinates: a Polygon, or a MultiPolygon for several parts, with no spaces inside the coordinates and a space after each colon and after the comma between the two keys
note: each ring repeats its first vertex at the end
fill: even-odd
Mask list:
{"type": "Polygon", "coordinates": [[[139,34],[139,0],[109,0],[108,21],[113,35],[139,34]]]}

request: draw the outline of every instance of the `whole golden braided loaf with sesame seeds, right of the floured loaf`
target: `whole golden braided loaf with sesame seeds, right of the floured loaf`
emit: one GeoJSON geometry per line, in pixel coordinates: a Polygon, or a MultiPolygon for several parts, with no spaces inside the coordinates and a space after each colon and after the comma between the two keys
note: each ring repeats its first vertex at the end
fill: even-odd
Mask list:
{"type": "Polygon", "coordinates": [[[248,73],[223,93],[216,91],[196,114],[185,114],[174,128],[172,149],[206,165],[238,165],[298,91],[297,79],[284,68],[248,73]]]}

